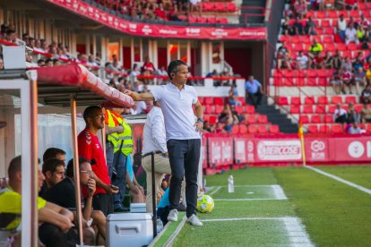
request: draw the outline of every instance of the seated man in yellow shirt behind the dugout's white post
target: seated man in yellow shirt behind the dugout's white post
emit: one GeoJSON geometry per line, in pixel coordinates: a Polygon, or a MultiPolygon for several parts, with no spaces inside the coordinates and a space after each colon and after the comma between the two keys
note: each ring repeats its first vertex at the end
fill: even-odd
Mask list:
{"type": "MultiPolygon", "coordinates": [[[[38,166],[39,169],[39,166],[38,166]]],[[[6,201],[0,207],[0,215],[7,216],[9,224],[2,226],[10,234],[16,231],[21,223],[22,215],[22,158],[18,156],[13,158],[9,167],[9,186],[0,191],[0,200],[6,201]]],[[[44,176],[39,170],[38,189],[43,183],[44,176]]],[[[73,213],[68,209],[57,206],[54,203],[47,202],[42,198],[37,199],[37,208],[39,215],[39,241],[46,246],[73,246],[78,243],[77,235],[73,232],[73,213]]],[[[2,219],[4,224],[4,220],[2,219]]],[[[1,236],[1,238],[4,235],[1,236]]],[[[4,236],[5,238],[7,235],[4,236]]],[[[12,237],[12,236],[11,236],[12,237]]],[[[0,238],[3,243],[4,239],[0,238]]],[[[17,238],[19,241],[20,239],[17,238]]],[[[6,240],[5,240],[6,241],[6,240]]],[[[12,243],[9,243],[11,246],[12,243]]],[[[19,243],[20,244],[20,243],[19,243]]]]}

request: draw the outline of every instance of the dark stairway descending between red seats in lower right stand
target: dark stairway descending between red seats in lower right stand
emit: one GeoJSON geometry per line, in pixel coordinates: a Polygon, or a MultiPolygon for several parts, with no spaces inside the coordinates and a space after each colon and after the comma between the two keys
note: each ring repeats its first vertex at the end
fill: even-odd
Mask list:
{"type": "Polygon", "coordinates": [[[268,121],[280,126],[282,133],[298,133],[298,124],[293,124],[288,115],[282,114],[275,105],[268,105],[266,98],[262,100],[262,105],[255,107],[255,111],[261,115],[267,115],[268,121]]]}

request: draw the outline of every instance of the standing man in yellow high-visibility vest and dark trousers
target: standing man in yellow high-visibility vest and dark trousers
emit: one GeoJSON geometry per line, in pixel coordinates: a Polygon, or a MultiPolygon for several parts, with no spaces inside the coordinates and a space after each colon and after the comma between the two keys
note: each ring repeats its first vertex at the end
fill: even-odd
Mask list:
{"type": "Polygon", "coordinates": [[[113,108],[106,110],[107,128],[107,158],[113,153],[112,168],[109,167],[108,172],[111,176],[112,184],[119,188],[119,192],[113,195],[114,209],[118,211],[126,211],[122,201],[125,196],[125,178],[126,178],[126,160],[127,156],[133,153],[133,138],[132,129],[129,124],[125,123],[121,116],[123,108],[113,108]]]}

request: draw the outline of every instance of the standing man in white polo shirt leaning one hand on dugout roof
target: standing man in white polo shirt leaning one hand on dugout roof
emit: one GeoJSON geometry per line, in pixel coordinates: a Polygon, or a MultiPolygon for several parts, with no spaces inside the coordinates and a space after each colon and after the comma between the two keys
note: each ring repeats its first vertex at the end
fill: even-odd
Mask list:
{"type": "Polygon", "coordinates": [[[183,61],[173,60],[168,64],[168,77],[171,83],[156,87],[151,92],[139,94],[125,90],[125,93],[137,101],[156,100],[161,104],[172,175],[168,220],[177,221],[180,188],[186,175],[186,217],[188,217],[186,222],[194,226],[203,226],[195,215],[203,106],[198,101],[194,88],[186,85],[187,75],[188,65],[183,61]]]}

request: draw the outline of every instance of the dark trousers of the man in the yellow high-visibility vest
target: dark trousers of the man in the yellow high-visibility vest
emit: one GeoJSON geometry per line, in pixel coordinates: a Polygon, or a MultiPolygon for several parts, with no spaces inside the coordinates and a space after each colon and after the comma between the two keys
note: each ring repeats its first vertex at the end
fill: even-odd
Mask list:
{"type": "Polygon", "coordinates": [[[127,157],[121,151],[116,151],[113,160],[113,173],[111,177],[112,184],[119,188],[116,194],[113,194],[114,208],[119,209],[123,207],[123,200],[125,197],[126,188],[126,160],[127,157]]]}

